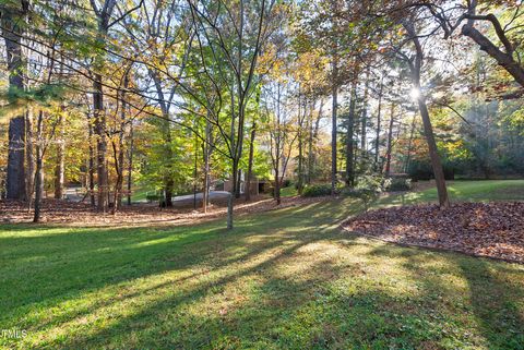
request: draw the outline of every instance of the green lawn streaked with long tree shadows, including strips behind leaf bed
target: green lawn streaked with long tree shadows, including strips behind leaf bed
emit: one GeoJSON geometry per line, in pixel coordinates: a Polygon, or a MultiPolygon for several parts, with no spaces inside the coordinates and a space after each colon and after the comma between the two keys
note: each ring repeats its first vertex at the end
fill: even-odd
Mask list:
{"type": "MultiPolygon", "coordinates": [[[[498,200],[523,185],[455,182],[450,192],[498,200]]],[[[428,190],[408,201],[433,198],[428,190]]],[[[0,346],[524,348],[524,266],[338,229],[360,210],[350,198],[320,202],[238,217],[234,231],[224,220],[0,226],[0,329],[27,331],[0,346]]]]}

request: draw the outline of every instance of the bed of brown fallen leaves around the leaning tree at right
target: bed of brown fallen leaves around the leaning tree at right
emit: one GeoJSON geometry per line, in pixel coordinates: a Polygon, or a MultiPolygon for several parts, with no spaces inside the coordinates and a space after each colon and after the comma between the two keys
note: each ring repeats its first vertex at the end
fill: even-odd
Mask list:
{"type": "Polygon", "coordinates": [[[524,202],[391,207],[343,226],[388,242],[524,263],[524,202]]]}

